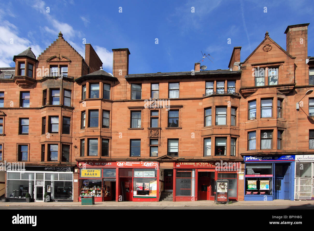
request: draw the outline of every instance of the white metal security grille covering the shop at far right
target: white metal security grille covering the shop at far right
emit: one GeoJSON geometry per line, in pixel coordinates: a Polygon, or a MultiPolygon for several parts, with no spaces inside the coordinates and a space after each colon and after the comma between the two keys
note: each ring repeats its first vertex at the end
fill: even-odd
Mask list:
{"type": "Polygon", "coordinates": [[[295,163],[295,199],[311,200],[312,195],[312,163],[295,163]]]}

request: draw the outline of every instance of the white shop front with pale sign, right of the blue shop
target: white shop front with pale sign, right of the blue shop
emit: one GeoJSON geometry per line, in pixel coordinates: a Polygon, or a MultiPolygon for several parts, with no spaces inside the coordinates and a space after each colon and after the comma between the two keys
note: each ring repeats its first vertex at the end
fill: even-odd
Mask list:
{"type": "Polygon", "coordinates": [[[314,155],[295,155],[295,200],[314,200],[314,155]]]}

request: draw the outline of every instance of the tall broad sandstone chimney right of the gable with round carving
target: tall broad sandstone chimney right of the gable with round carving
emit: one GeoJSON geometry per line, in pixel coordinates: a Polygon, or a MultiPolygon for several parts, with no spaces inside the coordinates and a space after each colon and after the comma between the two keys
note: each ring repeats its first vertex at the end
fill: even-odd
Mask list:
{"type": "Polygon", "coordinates": [[[307,26],[309,23],[288,26],[286,34],[287,52],[295,58],[295,82],[308,85],[309,69],[307,59],[307,26]]]}

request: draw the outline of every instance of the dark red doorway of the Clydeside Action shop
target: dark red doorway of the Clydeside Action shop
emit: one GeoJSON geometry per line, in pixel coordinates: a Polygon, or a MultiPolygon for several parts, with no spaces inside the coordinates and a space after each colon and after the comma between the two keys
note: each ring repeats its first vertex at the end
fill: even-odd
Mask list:
{"type": "Polygon", "coordinates": [[[198,172],[198,200],[214,200],[214,187],[214,172],[198,172]]]}

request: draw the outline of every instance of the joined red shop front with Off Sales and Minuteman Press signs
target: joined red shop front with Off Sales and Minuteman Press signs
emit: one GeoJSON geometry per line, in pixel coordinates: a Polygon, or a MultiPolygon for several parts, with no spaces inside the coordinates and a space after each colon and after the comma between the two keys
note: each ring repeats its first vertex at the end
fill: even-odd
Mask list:
{"type": "Polygon", "coordinates": [[[94,195],[95,201],[157,201],[158,162],[78,162],[79,198],[94,195]]]}

